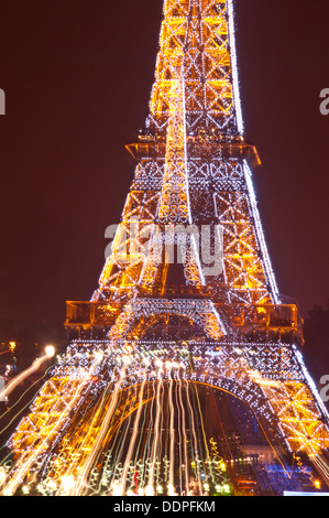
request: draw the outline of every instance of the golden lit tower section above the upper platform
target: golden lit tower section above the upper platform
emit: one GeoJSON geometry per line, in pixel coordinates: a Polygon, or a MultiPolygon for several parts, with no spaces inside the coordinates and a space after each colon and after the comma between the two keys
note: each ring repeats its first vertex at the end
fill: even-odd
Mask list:
{"type": "Polygon", "coordinates": [[[172,83],[185,83],[187,133],[242,134],[233,0],[166,0],[146,129],[166,131],[172,83]]]}

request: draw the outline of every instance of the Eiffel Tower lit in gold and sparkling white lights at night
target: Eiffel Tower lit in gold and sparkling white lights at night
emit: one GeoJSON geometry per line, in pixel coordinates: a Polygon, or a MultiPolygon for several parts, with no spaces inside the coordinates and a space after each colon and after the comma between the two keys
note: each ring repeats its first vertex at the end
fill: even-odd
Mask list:
{"type": "Polygon", "coordinates": [[[233,11],[164,1],[121,220],[91,300],[67,302],[68,346],[8,442],[4,495],[229,494],[237,455],[261,451],[328,485],[328,413],[253,190],[233,11]]]}

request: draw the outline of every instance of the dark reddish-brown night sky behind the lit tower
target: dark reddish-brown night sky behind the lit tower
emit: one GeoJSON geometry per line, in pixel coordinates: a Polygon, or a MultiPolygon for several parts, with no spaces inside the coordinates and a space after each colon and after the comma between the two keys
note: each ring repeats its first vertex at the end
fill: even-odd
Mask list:
{"type": "MultiPolygon", "coordinates": [[[[329,298],[328,0],[237,0],[246,138],[282,293],[304,315],[329,298]]],[[[61,324],[89,300],[147,114],[162,0],[2,2],[0,317],[61,324]]],[[[1,332],[1,330],[0,330],[1,332]]]]}

